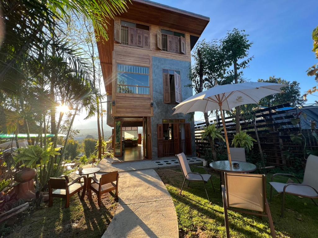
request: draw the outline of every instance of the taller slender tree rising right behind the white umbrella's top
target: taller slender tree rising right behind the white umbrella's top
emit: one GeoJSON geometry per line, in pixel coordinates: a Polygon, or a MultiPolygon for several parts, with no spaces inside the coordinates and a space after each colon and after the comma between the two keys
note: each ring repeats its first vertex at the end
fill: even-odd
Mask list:
{"type": "MultiPolygon", "coordinates": [[[[224,52],[227,60],[233,65],[228,74],[233,76],[234,83],[239,83],[239,76],[242,76],[243,71],[248,67],[251,62],[252,57],[248,57],[248,51],[252,46],[252,42],[247,39],[247,34],[244,33],[245,30],[238,30],[234,28],[232,31],[228,31],[226,37],[222,40],[222,51],[224,52]],[[243,60],[245,59],[245,60],[243,60]],[[239,62],[239,60],[242,60],[239,62]],[[241,70],[241,71],[240,71],[241,70]]],[[[240,131],[240,107],[235,108],[235,122],[236,122],[236,132],[240,131]]]]}

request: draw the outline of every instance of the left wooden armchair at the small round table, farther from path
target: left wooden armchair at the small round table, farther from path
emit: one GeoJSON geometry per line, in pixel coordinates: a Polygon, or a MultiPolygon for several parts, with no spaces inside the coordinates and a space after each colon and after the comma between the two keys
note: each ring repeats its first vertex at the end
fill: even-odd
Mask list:
{"type": "Polygon", "coordinates": [[[49,207],[53,205],[53,197],[65,198],[65,208],[70,206],[70,197],[75,193],[78,193],[83,189],[81,199],[84,199],[86,191],[87,179],[85,175],[82,175],[75,179],[73,182],[69,182],[69,179],[66,175],[61,175],[58,178],[49,179],[49,207]],[[80,182],[81,179],[84,179],[84,182],[80,182]],[[79,181],[79,183],[77,183],[79,181]],[[53,191],[53,189],[55,189],[53,191]]]}

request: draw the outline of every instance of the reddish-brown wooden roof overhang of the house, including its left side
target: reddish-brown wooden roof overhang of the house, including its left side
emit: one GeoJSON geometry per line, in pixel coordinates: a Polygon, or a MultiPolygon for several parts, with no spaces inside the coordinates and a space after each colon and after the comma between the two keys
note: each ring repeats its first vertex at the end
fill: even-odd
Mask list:
{"type": "MultiPolygon", "coordinates": [[[[128,3],[127,12],[121,14],[121,17],[189,32],[191,49],[210,22],[209,17],[204,17],[202,15],[148,0],[131,0],[131,3],[128,3]]],[[[98,42],[97,47],[106,92],[111,94],[113,81],[112,60],[114,50],[114,21],[110,20],[109,22],[108,36],[111,40],[104,41],[103,43],[98,42]]]]}

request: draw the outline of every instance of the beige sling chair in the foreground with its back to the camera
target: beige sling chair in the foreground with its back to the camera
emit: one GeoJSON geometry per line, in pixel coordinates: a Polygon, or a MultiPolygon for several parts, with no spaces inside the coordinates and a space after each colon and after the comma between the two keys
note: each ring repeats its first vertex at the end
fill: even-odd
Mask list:
{"type": "Polygon", "coordinates": [[[273,220],[266,198],[265,175],[225,173],[225,185],[222,185],[222,195],[227,238],[230,237],[227,210],[256,216],[267,216],[272,237],[276,238],[273,220]],[[241,209],[248,209],[255,212],[241,209]]]}

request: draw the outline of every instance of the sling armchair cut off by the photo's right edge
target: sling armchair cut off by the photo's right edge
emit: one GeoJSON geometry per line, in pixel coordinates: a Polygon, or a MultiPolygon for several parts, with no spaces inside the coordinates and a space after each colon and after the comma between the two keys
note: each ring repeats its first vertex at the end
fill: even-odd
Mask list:
{"type": "Polygon", "coordinates": [[[294,175],[291,174],[274,174],[272,176],[271,185],[271,201],[272,201],[272,192],[273,188],[278,192],[282,193],[282,203],[281,203],[281,217],[284,217],[284,204],[285,204],[285,194],[291,194],[301,197],[308,197],[315,203],[318,207],[317,203],[314,201],[314,198],[318,198],[318,156],[309,155],[306,168],[304,179],[302,183],[296,178],[294,175]],[[283,175],[288,177],[294,177],[299,183],[279,183],[273,182],[273,179],[277,175],[283,175]]]}

